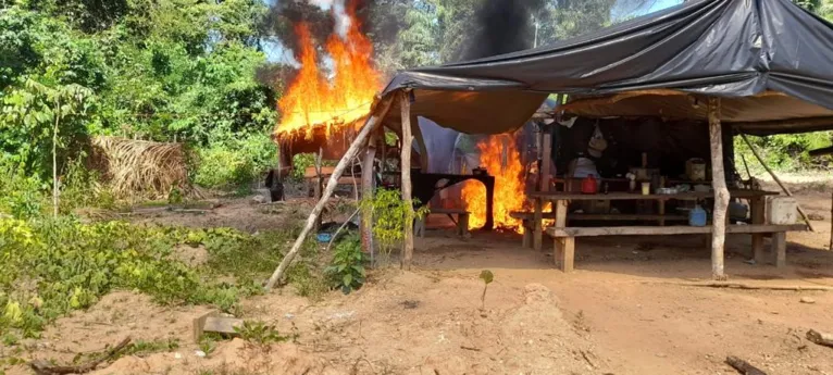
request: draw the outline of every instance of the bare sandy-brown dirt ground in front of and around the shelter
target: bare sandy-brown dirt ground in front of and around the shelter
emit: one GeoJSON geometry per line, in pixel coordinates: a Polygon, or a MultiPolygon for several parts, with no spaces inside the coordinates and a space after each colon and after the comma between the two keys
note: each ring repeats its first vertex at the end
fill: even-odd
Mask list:
{"type": "MultiPolygon", "coordinates": [[[[748,236],[730,237],[732,282],[833,286],[830,193],[800,190],[799,202],[818,232],[788,235],[787,268],[748,264],[748,236]]],[[[274,216],[247,199],[136,220],[259,230],[281,223],[274,216]]],[[[318,302],[288,289],[244,302],[243,317],[297,334],[290,342],[235,339],[203,358],[191,320],[207,308],[162,308],[119,291],[59,320],[32,357],[70,362],[130,336],[176,338],[179,348],[122,358],[94,374],[736,374],[726,355],[768,374],[833,374],[833,348],[805,339],[810,328],[833,332],[831,291],[681,285],[710,277],[710,251],[697,237],[581,238],[571,274],[554,268],[549,247],[520,243],[513,234],[467,240],[435,228],[418,239],[413,272],[377,271],[361,290],[318,302]],[[495,275],[485,303],[482,270],[495,275]]]]}

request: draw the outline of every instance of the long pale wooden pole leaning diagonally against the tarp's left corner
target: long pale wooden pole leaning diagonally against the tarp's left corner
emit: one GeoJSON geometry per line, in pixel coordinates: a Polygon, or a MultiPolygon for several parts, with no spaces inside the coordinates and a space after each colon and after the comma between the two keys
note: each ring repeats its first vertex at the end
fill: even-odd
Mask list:
{"type": "Polygon", "coordinates": [[[364,146],[364,140],[368,139],[368,135],[370,135],[370,133],[376,128],[376,125],[380,124],[382,118],[385,117],[387,110],[390,109],[390,99],[385,100],[381,107],[377,108],[377,111],[372,111],[375,112],[375,114],[368,117],[368,121],[364,123],[361,132],[356,135],[356,139],[353,139],[350,148],[347,149],[345,155],[340,161],[338,161],[338,165],[336,165],[335,171],[333,171],[333,174],[330,176],[330,182],[327,183],[326,189],[324,189],[324,192],[322,193],[319,202],[315,203],[315,208],[312,209],[310,217],[307,218],[307,225],[303,226],[303,230],[301,230],[301,233],[298,235],[298,238],[295,240],[293,248],[289,250],[289,252],[286,253],[286,257],[284,257],[284,260],[281,261],[281,264],[277,266],[275,272],[272,273],[272,277],[269,278],[269,282],[266,283],[266,290],[271,290],[275,287],[275,284],[277,284],[277,282],[284,276],[286,268],[288,268],[289,264],[293,263],[295,255],[297,255],[298,251],[301,250],[303,241],[307,240],[307,236],[310,234],[310,230],[312,230],[312,227],[315,225],[319,216],[321,216],[321,211],[324,210],[324,207],[327,204],[330,197],[333,196],[333,192],[338,185],[338,178],[340,178],[341,174],[344,174],[347,164],[351,163],[351,160],[356,158],[356,155],[359,153],[359,150],[361,150],[362,146],[364,146]]]}

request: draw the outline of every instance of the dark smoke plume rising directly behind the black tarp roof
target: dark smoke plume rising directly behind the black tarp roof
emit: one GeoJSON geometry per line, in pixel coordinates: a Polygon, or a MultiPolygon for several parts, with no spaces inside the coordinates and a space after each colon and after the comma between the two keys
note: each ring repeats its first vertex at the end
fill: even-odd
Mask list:
{"type": "Polygon", "coordinates": [[[474,14],[474,34],[459,55],[474,60],[532,48],[532,16],[544,5],[544,0],[485,0],[474,14]]]}

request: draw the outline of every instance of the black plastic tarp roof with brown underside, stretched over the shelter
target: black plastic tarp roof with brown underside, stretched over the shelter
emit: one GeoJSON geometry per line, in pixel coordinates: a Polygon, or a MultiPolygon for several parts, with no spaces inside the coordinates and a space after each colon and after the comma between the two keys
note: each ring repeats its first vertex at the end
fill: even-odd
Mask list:
{"type": "MultiPolygon", "coordinates": [[[[470,134],[520,127],[549,93],[589,117],[706,121],[745,133],[833,128],[833,25],[788,0],[700,0],[555,45],[396,75],[412,115],[470,134]]],[[[386,123],[397,127],[398,104],[386,123]]]]}

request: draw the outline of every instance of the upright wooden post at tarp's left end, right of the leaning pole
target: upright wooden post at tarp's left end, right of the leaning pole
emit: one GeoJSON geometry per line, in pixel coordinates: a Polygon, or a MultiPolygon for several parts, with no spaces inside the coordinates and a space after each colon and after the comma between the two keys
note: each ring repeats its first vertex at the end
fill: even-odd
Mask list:
{"type": "MultiPolygon", "coordinates": [[[[402,239],[402,268],[410,270],[413,260],[413,201],[411,189],[411,100],[408,91],[399,97],[399,108],[402,116],[402,201],[406,203],[405,238],[402,239]]],[[[427,203],[427,202],[426,202],[427,203]]]]}

